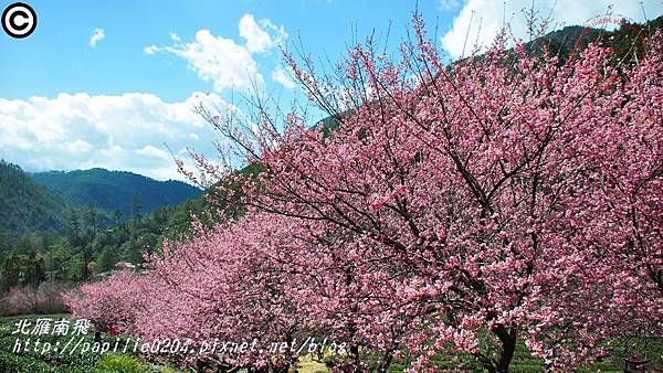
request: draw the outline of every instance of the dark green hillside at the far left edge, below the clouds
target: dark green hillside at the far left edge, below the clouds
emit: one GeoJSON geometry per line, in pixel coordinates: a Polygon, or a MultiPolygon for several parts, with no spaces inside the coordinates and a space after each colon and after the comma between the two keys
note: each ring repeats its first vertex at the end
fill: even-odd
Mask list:
{"type": "Polygon", "coordinates": [[[20,167],[0,161],[0,230],[63,232],[70,209],[57,195],[30,179],[20,167]]]}

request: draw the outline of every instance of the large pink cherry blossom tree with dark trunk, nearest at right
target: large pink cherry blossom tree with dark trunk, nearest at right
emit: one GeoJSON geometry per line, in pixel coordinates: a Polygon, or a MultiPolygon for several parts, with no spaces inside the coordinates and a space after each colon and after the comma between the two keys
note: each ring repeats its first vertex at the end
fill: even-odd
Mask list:
{"type": "Polygon", "coordinates": [[[262,170],[224,175],[242,183],[242,202],[381,253],[375,263],[425,320],[400,338],[415,369],[452,347],[505,372],[519,338],[569,366],[600,353],[628,309],[661,315],[660,295],[633,300],[660,276],[660,51],[630,63],[594,45],[562,62],[498,40],[445,66],[419,19],[414,31],[398,62],[371,40],[350,50],[336,86],[308,57],[286,56],[330,131],[297,113],[283,132],[266,110],[257,124],[213,121],[262,170]],[[582,347],[561,353],[560,339],[539,343],[543,329],[582,347]]]}

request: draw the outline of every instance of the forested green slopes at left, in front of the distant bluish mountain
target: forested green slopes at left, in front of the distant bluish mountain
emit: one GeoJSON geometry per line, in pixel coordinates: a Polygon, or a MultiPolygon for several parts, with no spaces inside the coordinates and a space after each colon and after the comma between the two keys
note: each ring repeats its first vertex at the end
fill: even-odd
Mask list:
{"type": "Polygon", "coordinates": [[[139,265],[144,253],[160,251],[164,238],[186,239],[191,213],[201,214],[203,223],[208,220],[202,194],[122,219],[94,203],[70,206],[18,166],[0,164],[0,217],[2,223],[15,222],[0,225],[0,296],[14,286],[87,280],[116,269],[119,262],[139,265]],[[24,216],[34,222],[19,220],[24,216]]]}

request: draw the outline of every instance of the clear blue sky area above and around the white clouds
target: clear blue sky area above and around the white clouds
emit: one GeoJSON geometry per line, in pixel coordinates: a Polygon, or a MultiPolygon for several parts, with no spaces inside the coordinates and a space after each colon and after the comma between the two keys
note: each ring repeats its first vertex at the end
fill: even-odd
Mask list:
{"type": "MultiPolygon", "coordinates": [[[[282,25],[291,41],[301,34],[311,53],[335,56],[351,40],[352,24],[357,24],[362,35],[372,29],[386,29],[390,20],[398,22],[394,31],[403,31],[414,4],[340,0],[33,0],[29,3],[38,12],[36,31],[24,40],[0,38],[2,55],[12,56],[0,58],[3,97],[52,97],[61,92],[93,95],[150,92],[168,102],[211,88],[176,56],[144,53],[148,45],[171,45],[170,33],[186,42],[207,29],[212,35],[241,44],[238,22],[252,14],[256,21],[269,19],[282,25]],[[105,38],[90,47],[96,28],[104,30],[105,38]]],[[[449,23],[453,15],[438,12],[434,1],[422,1],[420,8],[433,21],[440,15],[449,23]]],[[[280,53],[271,50],[256,58],[263,64],[274,64],[280,53]]]]}

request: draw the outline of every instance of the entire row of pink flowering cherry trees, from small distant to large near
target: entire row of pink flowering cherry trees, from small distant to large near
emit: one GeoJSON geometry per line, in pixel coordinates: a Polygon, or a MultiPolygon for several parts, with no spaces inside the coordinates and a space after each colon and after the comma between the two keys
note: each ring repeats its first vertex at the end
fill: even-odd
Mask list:
{"type": "Polygon", "coordinates": [[[148,274],[84,286],[73,312],[147,340],[257,341],[194,358],[254,371],[287,371],[296,349],[270,343],[312,335],[344,343],[345,372],[450,352],[507,372],[519,340],[573,370],[660,337],[663,35],[640,58],[498,39],[444,65],[413,24],[398,61],[369,39],[333,77],[286,54],[333,126],[201,106],[256,171],[194,154],[190,174],[242,214],[166,243],[148,274]]]}

